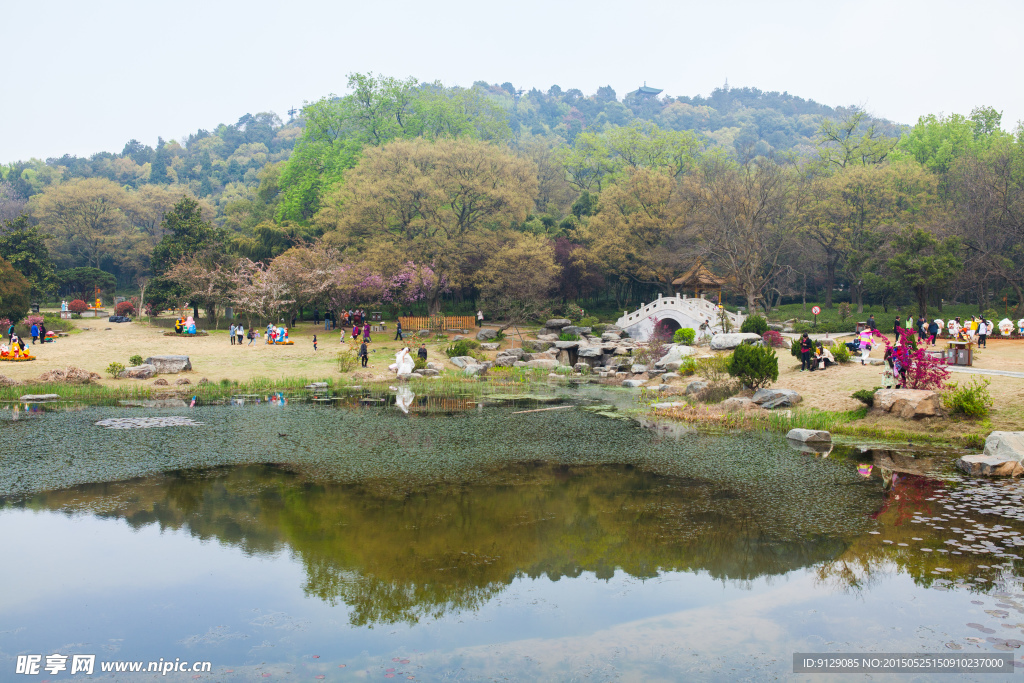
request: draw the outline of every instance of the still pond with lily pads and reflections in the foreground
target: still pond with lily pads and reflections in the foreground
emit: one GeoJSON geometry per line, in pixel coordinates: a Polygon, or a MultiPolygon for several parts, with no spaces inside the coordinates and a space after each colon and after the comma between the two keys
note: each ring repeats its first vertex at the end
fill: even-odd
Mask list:
{"type": "Polygon", "coordinates": [[[32,653],[209,660],[223,681],[1021,660],[1024,489],[963,480],[949,454],[530,400],[236,402],[0,412],[0,680],[73,678],[13,676],[32,653]]]}

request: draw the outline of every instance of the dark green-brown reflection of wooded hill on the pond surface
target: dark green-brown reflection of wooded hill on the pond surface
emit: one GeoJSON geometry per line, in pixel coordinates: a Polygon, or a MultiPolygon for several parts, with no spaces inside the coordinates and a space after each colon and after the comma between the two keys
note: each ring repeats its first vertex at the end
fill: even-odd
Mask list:
{"type": "MultiPolygon", "coordinates": [[[[479,607],[519,577],[701,570],[748,582],[841,555],[824,535],[766,531],[742,490],[626,465],[520,463],[469,483],[322,483],[278,466],[222,467],[36,495],[37,509],[159,524],[251,554],[289,549],[308,595],[356,625],[479,607]]],[[[864,511],[867,512],[866,510],[864,511]]]]}

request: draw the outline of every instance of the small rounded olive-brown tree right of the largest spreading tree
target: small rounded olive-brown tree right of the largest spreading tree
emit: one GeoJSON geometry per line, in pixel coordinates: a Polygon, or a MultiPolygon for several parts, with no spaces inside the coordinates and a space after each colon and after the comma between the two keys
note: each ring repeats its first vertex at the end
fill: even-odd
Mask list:
{"type": "Polygon", "coordinates": [[[512,232],[476,273],[480,300],[501,329],[536,319],[547,307],[560,268],[546,239],[512,232]]]}

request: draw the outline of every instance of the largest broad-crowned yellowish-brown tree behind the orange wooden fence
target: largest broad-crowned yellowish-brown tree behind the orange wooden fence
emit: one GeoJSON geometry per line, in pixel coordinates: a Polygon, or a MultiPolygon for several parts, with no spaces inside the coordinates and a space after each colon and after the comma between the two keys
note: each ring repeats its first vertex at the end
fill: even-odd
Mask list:
{"type": "MultiPolygon", "coordinates": [[[[497,145],[396,140],[366,151],[316,224],[332,244],[362,251],[387,245],[400,255],[395,261],[430,264],[461,287],[486,257],[493,230],[525,220],[536,193],[536,165],[497,145]]],[[[428,300],[432,313],[438,296],[428,300]]]]}

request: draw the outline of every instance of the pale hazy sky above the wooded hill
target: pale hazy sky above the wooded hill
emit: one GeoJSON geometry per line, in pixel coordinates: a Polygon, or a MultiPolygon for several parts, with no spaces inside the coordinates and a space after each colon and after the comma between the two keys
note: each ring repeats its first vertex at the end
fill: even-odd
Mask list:
{"type": "Polygon", "coordinates": [[[287,120],[352,72],[620,98],[728,80],[899,123],[987,104],[1013,130],[1022,19],[1020,0],[0,0],[0,163],[287,120]]]}

